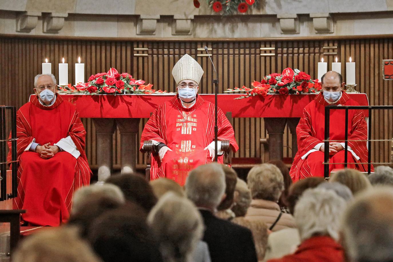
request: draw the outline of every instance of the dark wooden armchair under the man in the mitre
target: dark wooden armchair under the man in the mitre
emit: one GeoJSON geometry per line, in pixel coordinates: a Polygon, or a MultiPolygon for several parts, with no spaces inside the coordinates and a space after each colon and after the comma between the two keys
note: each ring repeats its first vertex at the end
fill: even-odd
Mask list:
{"type": "MultiPolygon", "coordinates": [[[[232,123],[232,113],[227,112],[226,117],[232,123]]],[[[224,152],[224,164],[231,164],[231,147],[229,140],[221,141],[221,151],[224,152]]],[[[142,152],[146,153],[146,170],[145,177],[146,180],[150,180],[150,169],[151,169],[151,154],[158,154],[158,152],[154,151],[153,143],[151,140],[147,140],[143,142],[143,150],[142,152]]]]}

